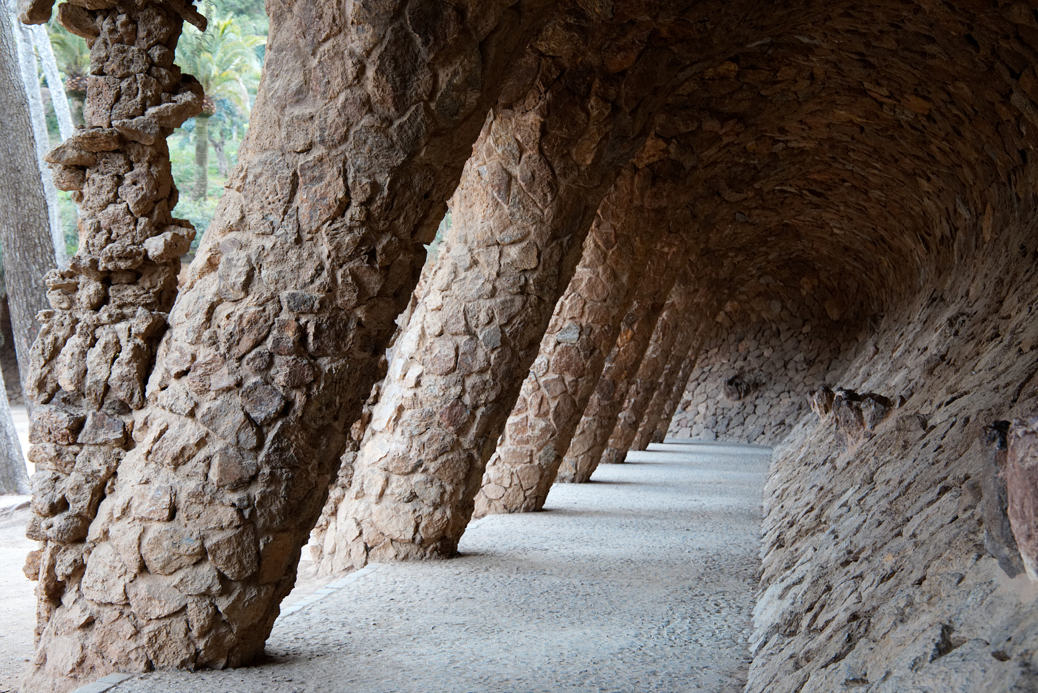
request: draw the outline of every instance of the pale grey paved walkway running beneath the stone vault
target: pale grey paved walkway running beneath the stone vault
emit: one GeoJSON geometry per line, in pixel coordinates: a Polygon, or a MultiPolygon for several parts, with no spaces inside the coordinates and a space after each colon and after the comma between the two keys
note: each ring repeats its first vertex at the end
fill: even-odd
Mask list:
{"type": "MultiPolygon", "coordinates": [[[[372,566],[289,609],[268,661],[113,693],[741,691],[770,450],[662,444],[449,561],[372,566]]],[[[103,687],[100,690],[104,690],[103,687]]]]}

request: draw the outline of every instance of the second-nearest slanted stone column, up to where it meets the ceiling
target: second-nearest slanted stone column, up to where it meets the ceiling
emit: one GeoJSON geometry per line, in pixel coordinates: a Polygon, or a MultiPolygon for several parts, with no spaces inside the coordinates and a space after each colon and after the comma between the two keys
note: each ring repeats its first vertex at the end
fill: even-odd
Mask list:
{"type": "MultiPolygon", "coordinates": [[[[592,198],[601,199],[620,167],[645,142],[662,102],[689,80],[681,66],[703,55],[706,46],[692,27],[706,21],[729,27],[726,45],[753,43],[764,35],[761,25],[746,22],[738,11],[729,13],[678,2],[657,3],[650,10],[625,4],[594,8],[567,4],[534,41],[518,71],[517,90],[513,93],[507,89],[488,117],[483,143],[475,148],[469,173],[456,197],[459,214],[455,238],[444,249],[445,258],[452,258],[444,261],[453,269],[436,270],[440,282],[454,283],[434,285],[424,300],[429,305],[416,308],[416,314],[425,313],[432,321],[429,329],[422,324],[427,317],[412,321],[409,331],[415,336],[402,341],[402,356],[414,361],[412,365],[420,368],[421,379],[435,384],[421,385],[419,371],[404,365],[404,360],[399,370],[390,372],[390,384],[383,389],[376,407],[381,408],[382,415],[373,411],[364,434],[364,446],[371,452],[361,450],[357,458],[357,465],[364,471],[351,472],[351,484],[368,484],[363,480],[368,476],[371,483],[351,487],[345,497],[352,495],[352,500],[338,503],[336,546],[326,535],[321,550],[325,570],[359,565],[371,555],[379,559],[452,555],[470,516],[470,498],[477,490],[475,476],[482,474],[504,425],[507,409],[518,396],[526,364],[536,356],[534,339],[539,340],[543,334],[552,304],[576,264],[579,241],[596,205],[589,204],[581,212],[579,223],[575,218],[551,215],[562,214],[561,210],[570,209],[568,204],[574,210],[579,207],[568,199],[570,195],[581,197],[588,190],[597,189],[592,198]],[[647,17],[645,11],[651,15],[647,17]],[[596,53],[599,48],[601,55],[596,53]],[[519,85],[531,88],[524,92],[518,90],[519,85]],[[547,162],[547,169],[535,170],[538,161],[547,162]],[[540,188],[552,175],[557,177],[556,187],[540,188]],[[486,223],[469,229],[459,227],[466,210],[473,215],[485,210],[488,218],[498,221],[489,228],[486,223]],[[502,218],[506,212],[508,221],[502,218]],[[515,219],[524,215],[523,223],[541,229],[529,238],[510,230],[510,225],[517,223],[515,219]],[[549,272],[547,268],[559,261],[562,255],[551,250],[545,256],[546,246],[540,245],[547,243],[547,238],[537,241],[537,235],[561,223],[566,225],[556,226],[552,232],[566,234],[565,247],[573,256],[566,256],[562,272],[549,272]],[[532,265],[535,249],[537,266],[532,265]],[[520,250],[526,255],[518,258],[519,265],[506,261],[508,253],[520,250]],[[523,262],[530,266],[520,267],[523,262]],[[495,321],[511,323],[496,325],[504,335],[504,351],[498,352],[493,329],[493,334],[487,335],[489,345],[483,344],[476,334],[490,325],[489,304],[466,308],[465,327],[454,320],[450,325],[461,330],[457,334],[440,332],[441,324],[443,330],[450,327],[443,316],[460,309],[453,297],[471,289],[476,292],[471,295],[473,299],[494,298],[481,295],[476,286],[494,294],[523,294],[530,287],[517,289],[506,284],[514,282],[510,277],[524,272],[550,279],[535,290],[541,292],[543,305],[527,306],[529,314],[506,311],[508,316],[502,320],[495,313],[495,321]],[[544,292],[551,295],[550,299],[544,292]],[[477,311],[482,312],[474,314],[477,311]],[[522,334],[512,344],[522,331],[528,336],[522,334]],[[443,350],[433,348],[434,341],[442,342],[443,350]],[[473,354],[466,353],[464,362],[458,361],[458,370],[449,370],[456,367],[450,352],[461,354],[463,346],[474,350],[473,354]],[[419,353],[420,359],[412,358],[419,353]],[[439,365],[426,362],[433,358],[440,359],[439,365]],[[477,375],[485,367],[484,361],[496,364],[490,366],[489,380],[477,375]],[[437,375],[435,368],[447,370],[437,375]],[[469,368],[474,370],[468,372],[469,368]],[[459,378],[464,384],[459,383],[459,378]],[[424,436],[429,437],[428,445],[422,442],[424,436]],[[392,462],[405,458],[411,462],[392,462]],[[419,461],[421,469],[432,471],[432,476],[419,471],[419,461]],[[393,469],[387,469],[387,465],[393,469]],[[420,492],[412,489],[411,475],[417,475],[420,492]]],[[[688,93],[685,87],[679,92],[688,93]]],[[[688,132],[688,119],[666,117],[674,134],[688,132]]],[[[689,183],[684,171],[696,161],[685,143],[660,137],[646,142],[639,157],[644,158],[641,165],[655,165],[656,175],[675,184],[689,183]]],[[[689,223],[688,228],[694,225],[689,223]]]]}

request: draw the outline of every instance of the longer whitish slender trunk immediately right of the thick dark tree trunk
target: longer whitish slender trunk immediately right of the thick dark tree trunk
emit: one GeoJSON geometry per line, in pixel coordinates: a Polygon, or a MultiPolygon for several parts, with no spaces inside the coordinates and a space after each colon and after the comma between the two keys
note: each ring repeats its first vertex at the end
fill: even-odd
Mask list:
{"type": "MultiPolygon", "coordinates": [[[[12,19],[13,12],[8,15],[12,19]]],[[[64,229],[61,226],[61,211],[58,207],[58,193],[45,158],[51,148],[51,137],[47,132],[47,112],[44,110],[43,92],[39,89],[39,67],[33,48],[33,31],[20,22],[15,22],[15,41],[18,45],[19,65],[22,84],[29,105],[29,119],[36,151],[36,170],[44,185],[44,199],[47,203],[48,230],[51,235],[54,261],[63,267],[65,260],[64,229]]],[[[43,277],[43,275],[39,275],[43,277]]],[[[33,318],[35,320],[35,318],[33,318]]]]}

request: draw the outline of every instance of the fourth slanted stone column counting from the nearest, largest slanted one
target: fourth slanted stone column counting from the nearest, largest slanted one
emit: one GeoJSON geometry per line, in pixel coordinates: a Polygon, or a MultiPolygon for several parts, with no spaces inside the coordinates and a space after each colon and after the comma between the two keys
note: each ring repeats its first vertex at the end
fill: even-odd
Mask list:
{"type": "MultiPolygon", "coordinates": [[[[639,284],[638,295],[624,317],[620,336],[583,410],[555,481],[584,483],[591,478],[616,425],[624,394],[641,365],[675,279],[687,262],[687,255],[675,253],[671,261],[659,268],[659,272],[647,273],[639,284]]],[[[543,500],[541,504],[544,504],[543,500]]]]}

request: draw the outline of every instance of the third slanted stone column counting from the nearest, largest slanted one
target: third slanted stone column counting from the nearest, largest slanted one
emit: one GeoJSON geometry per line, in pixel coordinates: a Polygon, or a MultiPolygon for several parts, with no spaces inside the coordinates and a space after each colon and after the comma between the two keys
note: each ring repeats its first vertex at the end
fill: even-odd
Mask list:
{"type": "Polygon", "coordinates": [[[580,420],[620,321],[644,276],[647,244],[665,266],[680,237],[653,231],[664,210],[651,209],[652,174],[640,169],[618,181],[598,211],[583,256],[548,330],[504,433],[487,465],[475,498],[475,517],[541,509],[563,452],[580,420]]]}

